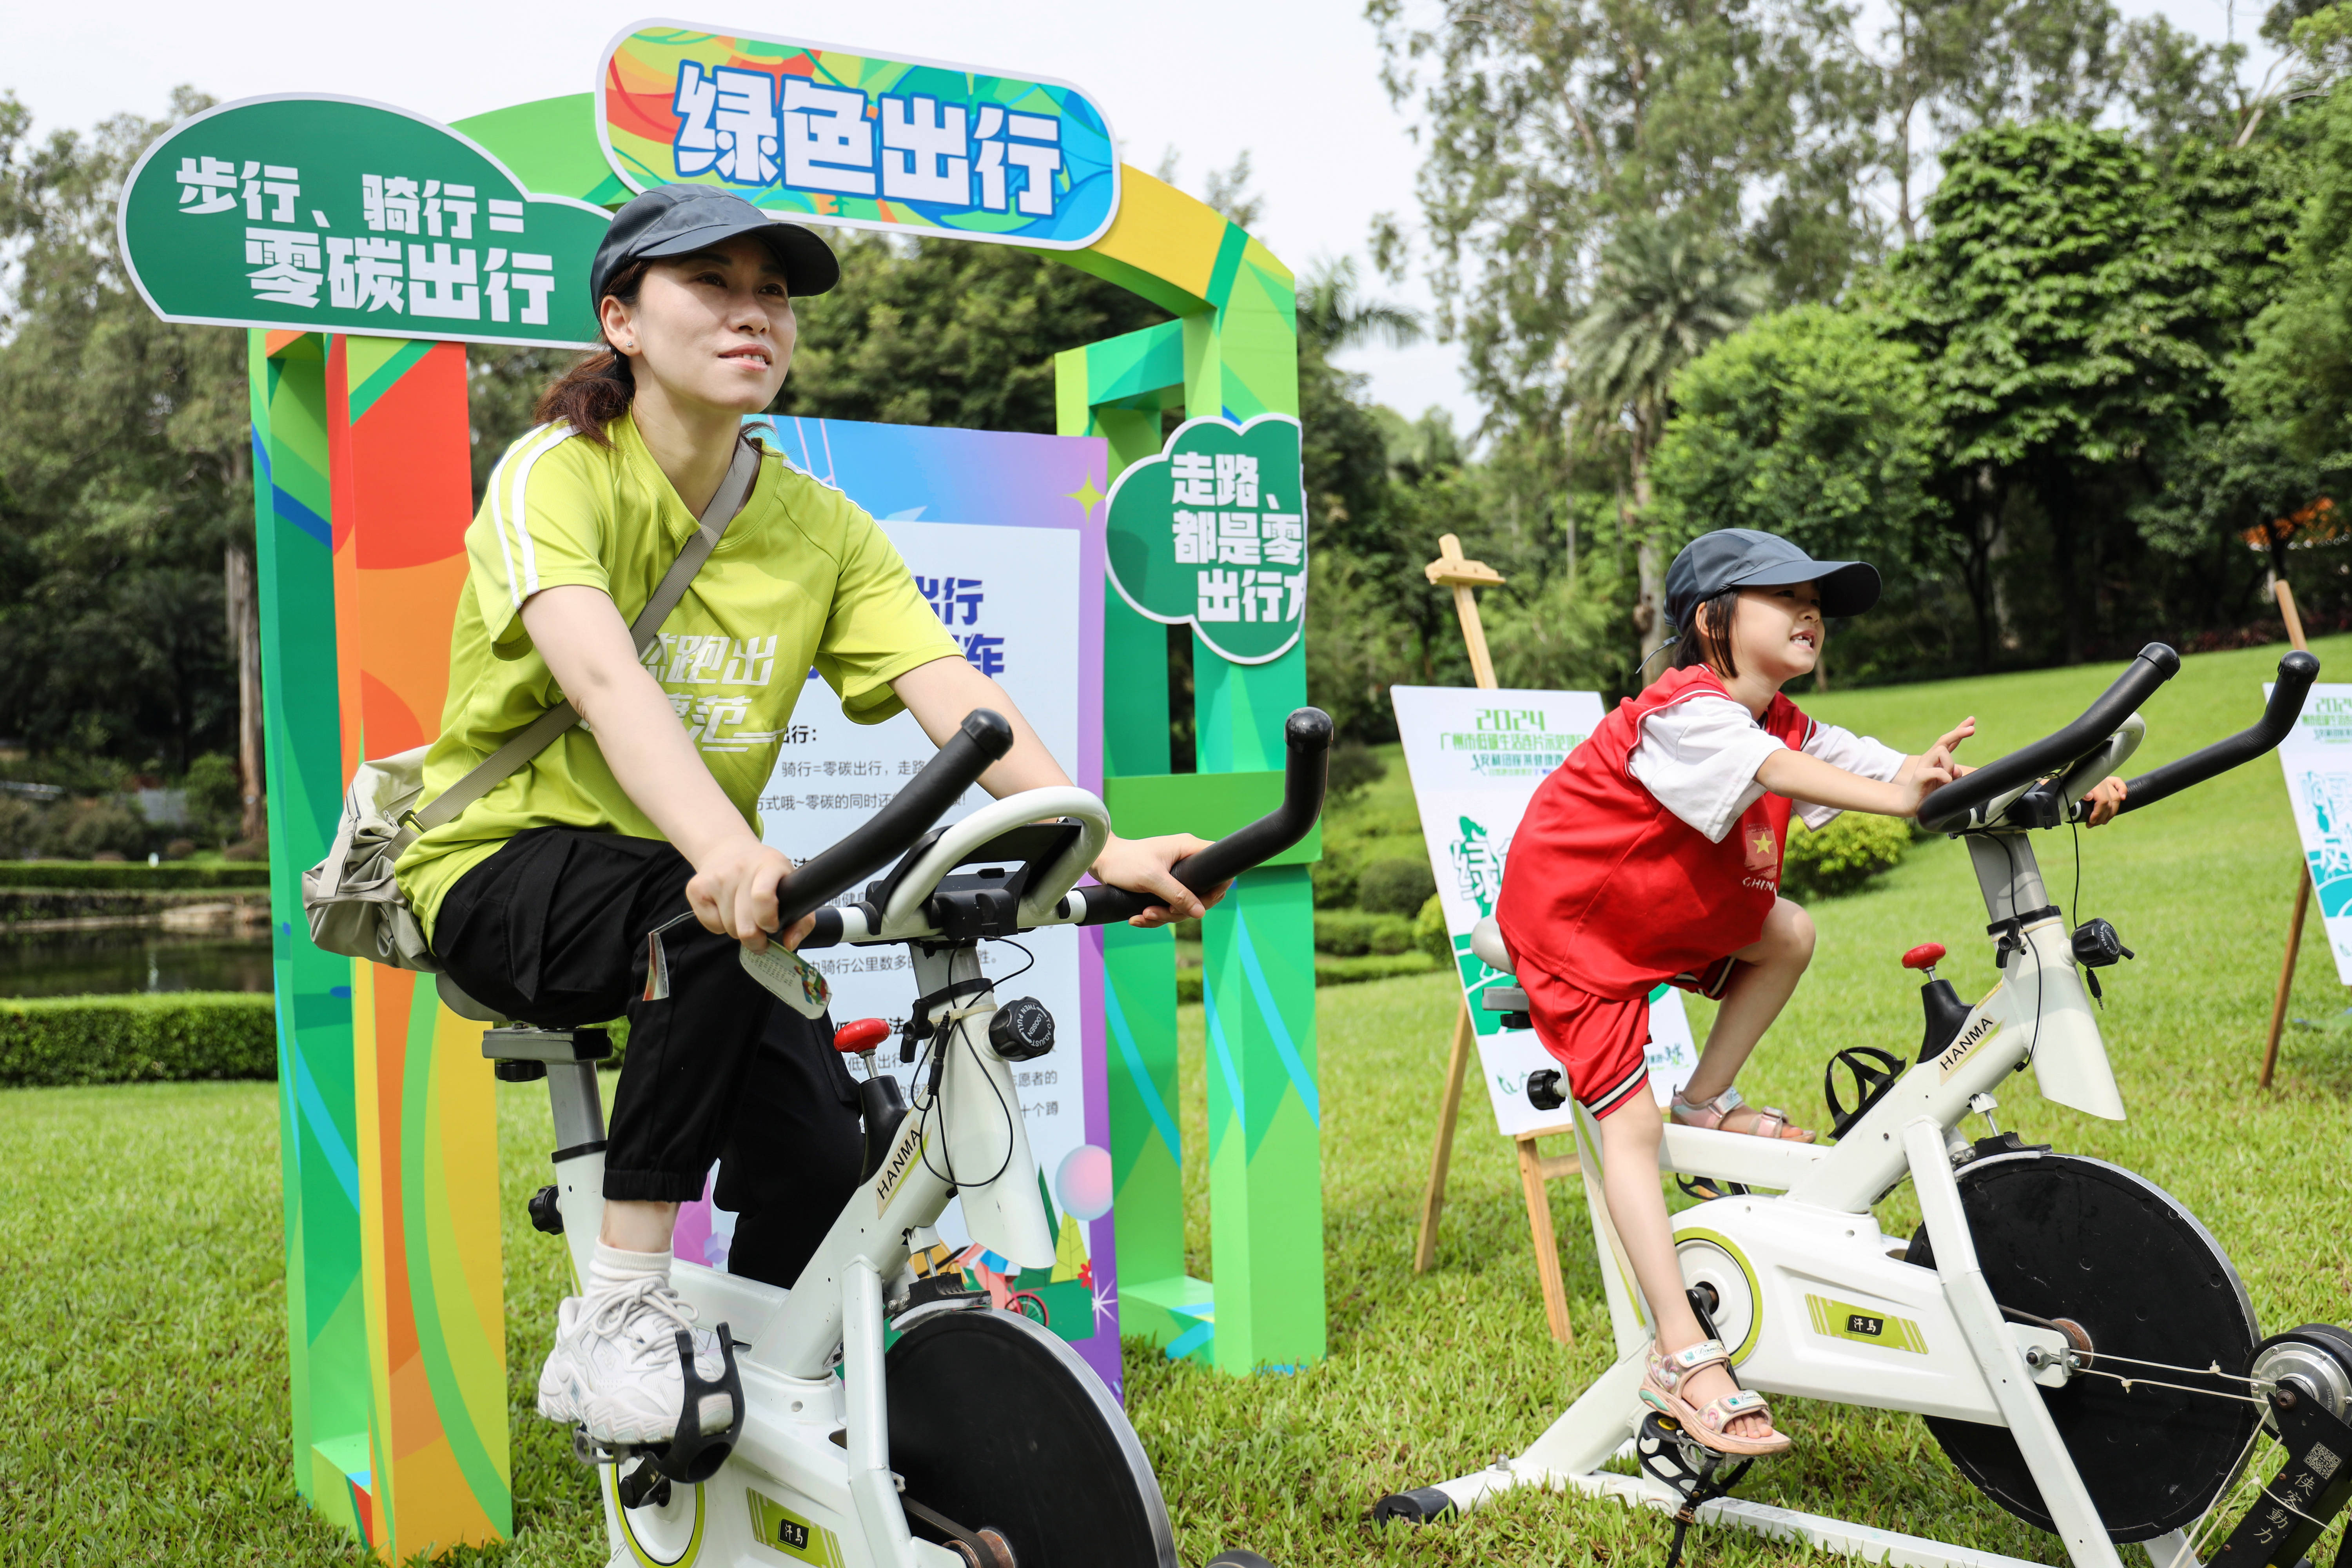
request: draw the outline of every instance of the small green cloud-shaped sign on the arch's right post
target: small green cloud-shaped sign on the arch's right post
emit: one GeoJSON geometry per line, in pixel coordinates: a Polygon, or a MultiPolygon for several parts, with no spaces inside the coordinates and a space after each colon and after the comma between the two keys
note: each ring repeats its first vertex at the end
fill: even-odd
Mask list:
{"type": "Polygon", "coordinates": [[[1110,583],[1138,614],[1190,623],[1237,665],[1298,642],[1308,607],[1298,421],[1188,418],[1110,487],[1110,583]]]}

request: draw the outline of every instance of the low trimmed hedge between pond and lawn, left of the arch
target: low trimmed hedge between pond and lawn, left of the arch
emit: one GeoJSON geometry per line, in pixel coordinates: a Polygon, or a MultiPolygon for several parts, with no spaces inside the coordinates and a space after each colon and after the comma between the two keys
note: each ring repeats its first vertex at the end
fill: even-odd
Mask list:
{"type": "Polygon", "coordinates": [[[278,1077],[268,992],[0,999],[0,1086],[278,1077]]]}

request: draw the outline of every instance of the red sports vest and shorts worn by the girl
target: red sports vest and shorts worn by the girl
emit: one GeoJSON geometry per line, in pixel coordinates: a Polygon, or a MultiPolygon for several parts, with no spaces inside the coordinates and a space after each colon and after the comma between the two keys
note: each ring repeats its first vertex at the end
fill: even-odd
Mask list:
{"type": "MultiPolygon", "coordinates": [[[[1649,1081],[1649,992],[1663,980],[1722,994],[1726,954],[1764,933],[1780,896],[1785,797],[1766,792],[1710,844],[1628,766],[1642,719],[1693,696],[1731,693],[1705,665],[1670,670],[1536,785],[1494,910],[1536,1034],[1597,1117],[1649,1081]]],[[[1785,696],[1762,724],[1790,750],[1813,729],[1785,696]]]]}

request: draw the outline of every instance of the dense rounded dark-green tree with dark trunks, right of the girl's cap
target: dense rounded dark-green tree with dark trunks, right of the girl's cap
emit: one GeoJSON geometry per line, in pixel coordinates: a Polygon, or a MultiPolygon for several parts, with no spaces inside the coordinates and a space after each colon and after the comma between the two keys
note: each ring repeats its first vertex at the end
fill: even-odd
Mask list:
{"type": "Polygon", "coordinates": [[[2129,529],[2103,527],[2117,470],[2161,456],[2220,395],[2201,315],[2213,266],[2150,155],[2070,120],[1962,136],[1929,219],[1889,263],[1889,299],[1947,442],[1978,665],[1994,661],[1994,559],[2018,503],[2046,541],[2046,654],[2072,663],[2110,630],[2103,585],[2131,564],[2129,529]]]}

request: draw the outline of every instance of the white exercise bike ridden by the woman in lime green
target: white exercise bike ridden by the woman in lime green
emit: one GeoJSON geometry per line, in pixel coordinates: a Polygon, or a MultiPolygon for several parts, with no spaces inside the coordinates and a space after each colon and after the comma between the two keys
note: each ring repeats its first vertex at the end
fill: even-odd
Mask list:
{"type": "MultiPolygon", "coordinates": [[[[1178,863],[1185,886],[1216,886],[1315,825],[1331,719],[1301,708],[1287,743],[1282,806],[1178,863]]],[[[1009,745],[1000,715],[974,712],[870,823],[779,889],[783,926],[816,914],[802,950],[908,945],[915,1103],[873,1072],[887,1032],[875,1020],[844,1027],[835,1044],[868,1058],[866,1178],[795,1286],[670,1265],[680,1295],[720,1326],[727,1366],[717,1382],[696,1378],[680,1333],[675,1441],[612,1450],[576,1434],[579,1455],[600,1467],[612,1568],[1178,1568],[1160,1483],[1101,1378],[1054,1333],[941,1269],[934,1225],[957,1197],[974,1241],[1023,1267],[1054,1262],[1011,1077],[1011,1063],[1054,1048],[1054,1020],[1025,997],[997,1006],[981,943],[1152,907],[1075,886],[1110,835],[1087,790],[1028,790],[931,827],[1009,745]],[[863,898],[830,903],[891,858],[863,898]]],[[[823,1013],[823,980],[783,950],[743,964],[790,1006],[823,1013]]],[[[595,1063],[609,1044],[600,1030],[510,1025],[485,1034],[482,1056],[501,1079],[548,1079],[555,1185],[532,1201],[532,1220],[569,1239],[586,1279],[604,1208],[595,1063]]],[[[1209,1568],[1221,1563],[1270,1568],[1249,1552],[1209,1568]]]]}

